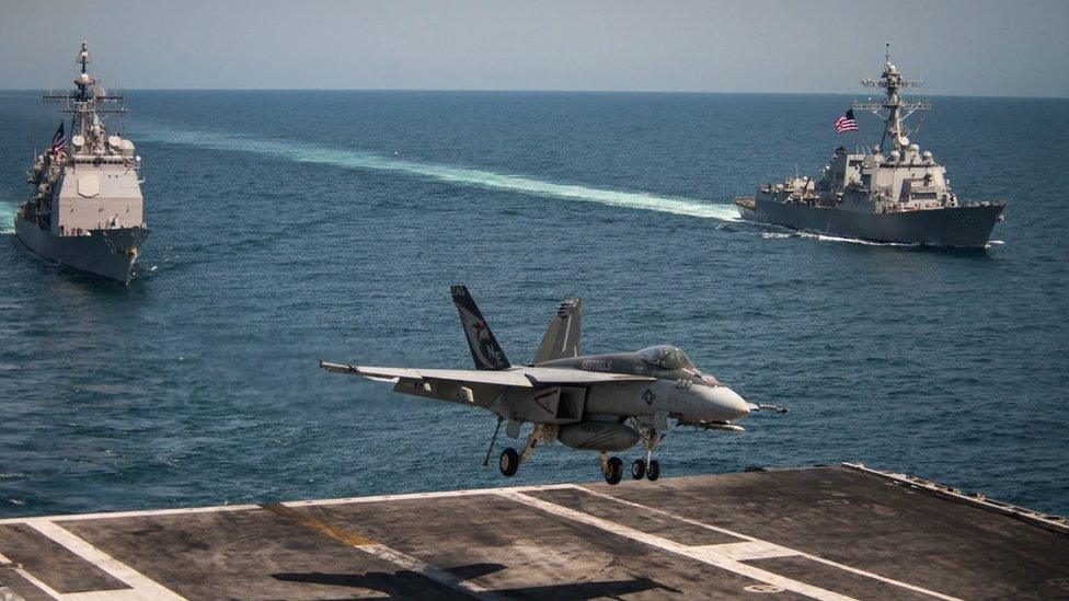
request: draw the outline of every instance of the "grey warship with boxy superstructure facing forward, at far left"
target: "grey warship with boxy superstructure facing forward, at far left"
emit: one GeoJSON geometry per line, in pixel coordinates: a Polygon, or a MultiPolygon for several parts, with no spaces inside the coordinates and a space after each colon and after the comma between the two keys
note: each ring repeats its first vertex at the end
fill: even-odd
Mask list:
{"type": "Polygon", "coordinates": [[[38,154],[26,181],[33,196],[15,213],[15,233],[51,261],[127,282],[148,236],[140,188],[141,158],[134,143],[108,134],[102,115],[123,115],[123,97],[105,92],[85,71],[89,49],[76,57],[77,91],[45,94],[71,115],[70,138],[60,123],[51,146],[38,154]],[[69,143],[68,143],[69,142],[69,143]]]}

